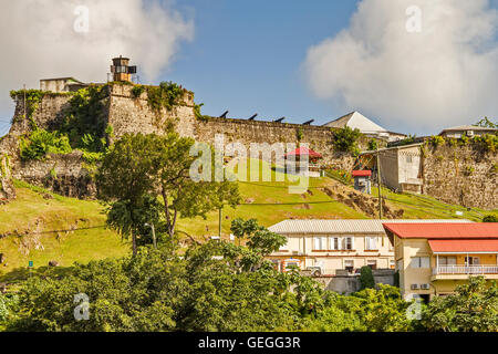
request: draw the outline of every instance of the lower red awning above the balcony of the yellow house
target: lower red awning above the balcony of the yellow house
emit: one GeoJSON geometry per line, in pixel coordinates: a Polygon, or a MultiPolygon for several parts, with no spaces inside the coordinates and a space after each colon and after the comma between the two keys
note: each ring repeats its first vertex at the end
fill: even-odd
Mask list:
{"type": "Polygon", "coordinates": [[[498,253],[498,240],[428,240],[434,253],[498,253]]]}

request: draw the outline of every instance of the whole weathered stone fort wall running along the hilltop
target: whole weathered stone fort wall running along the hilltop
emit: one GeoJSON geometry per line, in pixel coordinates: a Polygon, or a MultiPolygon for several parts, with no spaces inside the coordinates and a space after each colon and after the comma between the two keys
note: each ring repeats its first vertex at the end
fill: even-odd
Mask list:
{"type": "MultiPolygon", "coordinates": [[[[125,133],[162,134],[166,123],[173,122],[181,136],[198,142],[214,144],[216,134],[222,134],[226,145],[241,143],[247,148],[251,143],[267,143],[268,149],[273,143],[308,143],[323,155],[323,164],[345,170],[354,166],[355,158],[351,154],[334,150],[333,131],[329,127],[216,117],[199,119],[195,116],[194,94],[188,91],[179,105],[157,113],[149,107],[146,93],[134,97],[131,90],[129,85],[108,86],[108,97],[104,102],[107,113],[103,118],[113,126],[114,139],[125,133]]],[[[70,95],[46,94],[32,119],[41,128],[56,128],[70,98],[70,95]]],[[[76,152],[69,156],[53,155],[44,162],[20,160],[17,137],[31,129],[28,119],[19,118],[23,112],[23,102],[18,100],[15,122],[9,136],[0,142],[0,153],[11,157],[12,176],[68,196],[93,196],[95,189],[90,171],[76,152]]],[[[367,140],[363,137],[360,147],[365,149],[367,140]]],[[[496,153],[483,154],[470,146],[428,149],[423,156],[423,190],[452,204],[498,208],[497,159],[496,153]]],[[[383,169],[387,171],[388,166],[383,169]]]]}

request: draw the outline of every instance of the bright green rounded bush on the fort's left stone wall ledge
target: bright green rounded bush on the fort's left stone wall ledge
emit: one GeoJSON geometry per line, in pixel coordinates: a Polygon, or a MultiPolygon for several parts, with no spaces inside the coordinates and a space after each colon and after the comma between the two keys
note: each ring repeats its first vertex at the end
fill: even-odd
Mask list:
{"type": "Polygon", "coordinates": [[[72,152],[68,136],[58,132],[38,129],[19,139],[21,158],[42,159],[46,154],[69,154],[72,152]]]}

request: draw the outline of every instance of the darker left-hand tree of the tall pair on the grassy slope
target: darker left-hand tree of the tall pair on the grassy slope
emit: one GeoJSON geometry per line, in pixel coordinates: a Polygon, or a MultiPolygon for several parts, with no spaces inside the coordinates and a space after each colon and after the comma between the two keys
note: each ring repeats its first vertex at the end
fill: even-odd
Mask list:
{"type": "Polygon", "coordinates": [[[156,171],[149,149],[155,140],[154,135],[125,134],[105,155],[96,175],[98,196],[111,204],[108,223],[122,236],[132,236],[133,254],[137,251],[137,210],[154,190],[156,171]]]}

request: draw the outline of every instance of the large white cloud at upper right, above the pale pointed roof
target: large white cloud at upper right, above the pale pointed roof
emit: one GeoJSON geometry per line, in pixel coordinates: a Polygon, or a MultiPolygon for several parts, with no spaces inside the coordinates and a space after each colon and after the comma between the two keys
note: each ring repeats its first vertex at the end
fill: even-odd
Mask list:
{"type": "Polygon", "coordinates": [[[313,93],[378,118],[387,128],[434,133],[498,118],[498,12],[486,0],[363,0],[350,27],[312,46],[313,93]],[[405,11],[422,10],[408,33],[405,11]]]}

